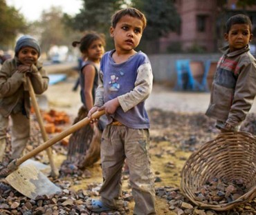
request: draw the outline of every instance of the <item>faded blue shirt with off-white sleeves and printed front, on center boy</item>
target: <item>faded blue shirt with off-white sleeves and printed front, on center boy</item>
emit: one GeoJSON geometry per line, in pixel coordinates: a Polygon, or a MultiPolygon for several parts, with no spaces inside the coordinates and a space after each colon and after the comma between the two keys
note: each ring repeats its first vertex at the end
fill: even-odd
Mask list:
{"type": "Polygon", "coordinates": [[[112,119],[127,127],[149,128],[145,110],[145,100],[152,92],[153,74],[147,55],[137,52],[123,63],[115,63],[107,52],[100,63],[100,79],[96,91],[95,105],[101,107],[105,102],[118,98],[120,107],[112,119]]]}

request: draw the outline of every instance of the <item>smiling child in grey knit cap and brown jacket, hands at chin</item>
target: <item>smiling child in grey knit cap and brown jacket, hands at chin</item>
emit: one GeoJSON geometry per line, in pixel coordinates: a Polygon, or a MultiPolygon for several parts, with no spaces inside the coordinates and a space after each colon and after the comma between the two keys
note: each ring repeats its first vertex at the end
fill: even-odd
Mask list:
{"type": "Polygon", "coordinates": [[[35,90],[42,94],[48,88],[48,76],[38,61],[41,48],[37,40],[25,35],[15,45],[15,57],[3,63],[0,70],[0,162],[6,148],[9,116],[12,120],[11,159],[22,156],[30,137],[30,94],[26,75],[35,90]]]}

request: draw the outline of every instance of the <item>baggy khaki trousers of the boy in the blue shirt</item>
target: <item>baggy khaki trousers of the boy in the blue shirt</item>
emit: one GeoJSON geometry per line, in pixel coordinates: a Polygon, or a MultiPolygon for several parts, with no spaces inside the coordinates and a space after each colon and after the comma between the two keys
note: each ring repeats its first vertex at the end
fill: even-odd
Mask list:
{"type": "Polygon", "coordinates": [[[125,125],[107,125],[100,148],[103,184],[102,202],[115,209],[122,193],[122,167],[126,158],[134,196],[134,214],[156,214],[154,174],[150,169],[149,130],[131,129],[125,125]]]}

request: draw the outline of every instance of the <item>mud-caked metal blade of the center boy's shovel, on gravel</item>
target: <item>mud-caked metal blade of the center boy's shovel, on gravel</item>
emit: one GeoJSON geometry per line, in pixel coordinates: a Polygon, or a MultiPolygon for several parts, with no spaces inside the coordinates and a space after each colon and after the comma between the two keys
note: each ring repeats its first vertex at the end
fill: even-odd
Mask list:
{"type": "Polygon", "coordinates": [[[32,164],[19,166],[17,170],[6,177],[6,181],[15,190],[34,200],[37,196],[51,195],[62,191],[32,164]]]}

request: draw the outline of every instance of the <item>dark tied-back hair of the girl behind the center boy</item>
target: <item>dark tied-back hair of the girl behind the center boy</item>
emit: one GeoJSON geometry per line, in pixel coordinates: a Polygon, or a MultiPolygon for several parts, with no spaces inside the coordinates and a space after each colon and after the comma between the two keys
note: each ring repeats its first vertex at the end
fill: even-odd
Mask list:
{"type": "Polygon", "coordinates": [[[82,37],[80,41],[73,41],[72,46],[76,47],[77,45],[80,45],[80,52],[84,53],[86,52],[86,50],[88,50],[91,43],[93,43],[93,41],[95,40],[100,40],[102,41],[102,44],[104,46],[106,45],[104,34],[99,34],[97,32],[90,31],[86,32],[86,34],[84,34],[84,37],[82,37]]]}

